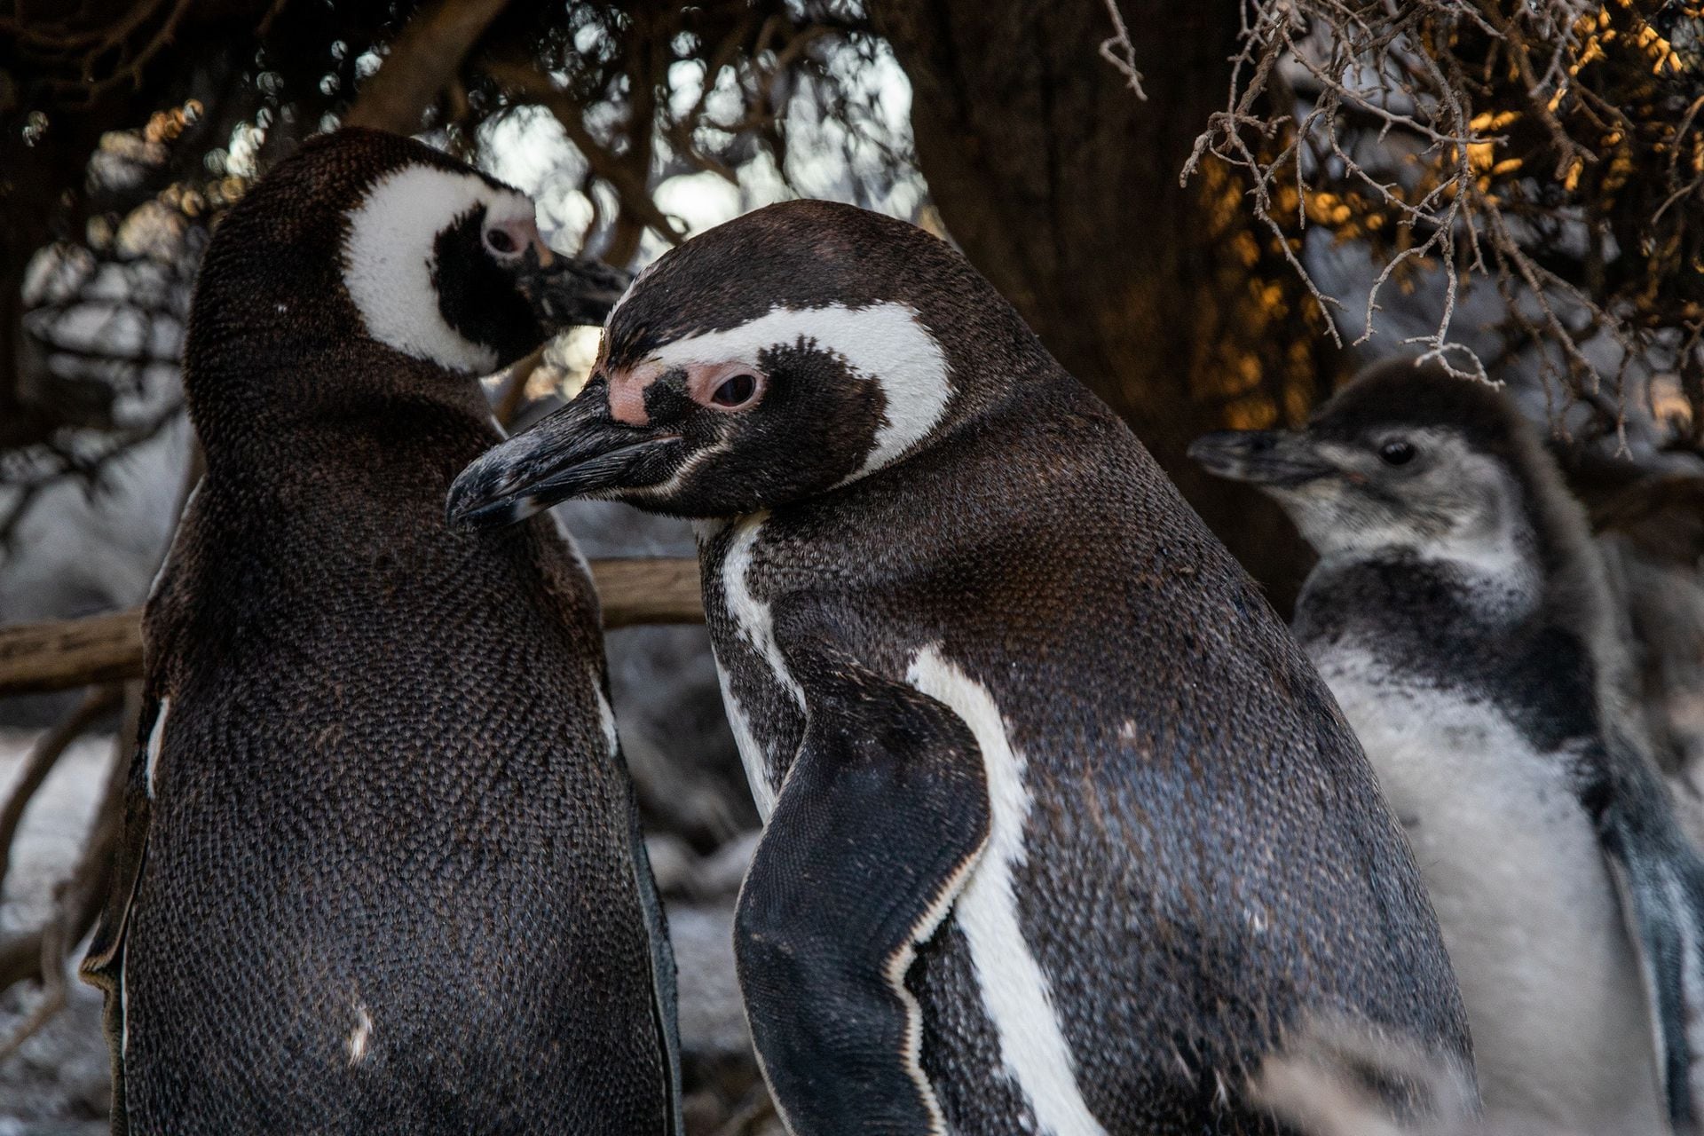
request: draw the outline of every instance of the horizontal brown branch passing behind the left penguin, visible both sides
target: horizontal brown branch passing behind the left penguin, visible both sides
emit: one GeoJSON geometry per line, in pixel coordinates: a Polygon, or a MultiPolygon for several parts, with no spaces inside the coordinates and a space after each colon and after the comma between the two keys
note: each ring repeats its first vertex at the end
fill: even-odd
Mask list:
{"type": "MultiPolygon", "coordinates": [[[[699,562],[593,560],[603,627],[702,623],[699,562]]],[[[141,611],[0,628],[0,697],[72,690],[141,676],[141,611]]]]}

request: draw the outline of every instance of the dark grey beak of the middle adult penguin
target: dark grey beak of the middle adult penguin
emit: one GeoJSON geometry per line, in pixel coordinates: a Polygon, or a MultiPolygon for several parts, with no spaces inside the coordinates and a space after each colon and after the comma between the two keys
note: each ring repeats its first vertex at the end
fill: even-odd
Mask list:
{"type": "Polygon", "coordinates": [[[680,465],[678,434],[610,417],[598,378],[566,407],[492,446],[450,485],[450,525],[496,528],[569,497],[608,497],[666,480],[680,465]]]}

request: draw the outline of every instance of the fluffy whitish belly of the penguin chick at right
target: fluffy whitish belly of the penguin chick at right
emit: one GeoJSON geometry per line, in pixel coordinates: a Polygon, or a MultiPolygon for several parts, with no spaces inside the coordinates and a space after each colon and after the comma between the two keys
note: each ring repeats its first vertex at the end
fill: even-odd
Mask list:
{"type": "Polygon", "coordinates": [[[1488,1114],[1663,1131],[1632,944],[1564,754],[1491,703],[1315,659],[1414,846],[1467,1003],[1488,1114]]]}

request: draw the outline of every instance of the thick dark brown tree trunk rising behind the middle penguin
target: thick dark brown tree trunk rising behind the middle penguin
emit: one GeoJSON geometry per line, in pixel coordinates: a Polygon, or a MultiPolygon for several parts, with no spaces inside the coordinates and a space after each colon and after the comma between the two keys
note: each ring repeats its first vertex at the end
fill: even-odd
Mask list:
{"type": "Polygon", "coordinates": [[[1123,0],[1148,99],[1099,55],[1101,0],[872,0],[912,82],[941,218],[1048,349],[1137,429],[1287,610],[1310,557],[1268,501],[1184,448],[1314,400],[1319,320],[1218,167],[1179,186],[1237,51],[1237,0],[1123,0]],[[1269,276],[1266,273],[1271,271],[1269,276]]]}

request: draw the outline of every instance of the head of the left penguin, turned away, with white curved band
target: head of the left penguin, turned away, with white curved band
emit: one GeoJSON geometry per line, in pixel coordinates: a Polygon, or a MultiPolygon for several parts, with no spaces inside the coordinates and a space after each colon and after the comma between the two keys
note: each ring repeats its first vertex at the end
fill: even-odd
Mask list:
{"type": "Polygon", "coordinates": [[[399,370],[428,385],[484,375],[564,315],[602,318],[624,283],[552,254],[520,191],[409,138],[339,129],[279,162],[215,230],[186,342],[191,409],[336,404],[399,370]]]}

